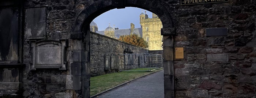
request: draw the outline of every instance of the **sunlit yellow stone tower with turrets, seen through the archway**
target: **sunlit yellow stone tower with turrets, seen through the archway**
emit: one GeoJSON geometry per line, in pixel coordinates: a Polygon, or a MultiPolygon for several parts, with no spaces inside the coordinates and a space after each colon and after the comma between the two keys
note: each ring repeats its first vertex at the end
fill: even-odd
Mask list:
{"type": "Polygon", "coordinates": [[[152,14],[152,18],[142,12],[140,14],[140,24],[142,28],[142,37],[148,42],[149,50],[163,50],[161,28],[163,27],[161,20],[156,14],[152,14]]]}

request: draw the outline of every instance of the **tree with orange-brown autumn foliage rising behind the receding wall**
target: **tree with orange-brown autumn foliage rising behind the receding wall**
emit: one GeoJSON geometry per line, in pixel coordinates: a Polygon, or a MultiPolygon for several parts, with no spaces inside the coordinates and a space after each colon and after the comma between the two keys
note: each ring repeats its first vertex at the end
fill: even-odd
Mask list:
{"type": "Polygon", "coordinates": [[[126,42],[131,45],[139,46],[142,48],[148,48],[148,42],[146,42],[143,38],[138,37],[137,34],[131,34],[131,35],[121,35],[118,38],[119,41],[126,42]]]}

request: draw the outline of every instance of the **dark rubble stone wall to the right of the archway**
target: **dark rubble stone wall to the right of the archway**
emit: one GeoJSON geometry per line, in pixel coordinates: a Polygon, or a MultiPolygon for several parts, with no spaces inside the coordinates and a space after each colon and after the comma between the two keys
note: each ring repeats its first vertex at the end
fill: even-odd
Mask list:
{"type": "Polygon", "coordinates": [[[185,53],[174,59],[176,97],[256,97],[255,0],[229,1],[173,5],[179,8],[171,11],[178,21],[174,47],[185,53]],[[207,28],[228,34],[207,36],[207,28]]]}

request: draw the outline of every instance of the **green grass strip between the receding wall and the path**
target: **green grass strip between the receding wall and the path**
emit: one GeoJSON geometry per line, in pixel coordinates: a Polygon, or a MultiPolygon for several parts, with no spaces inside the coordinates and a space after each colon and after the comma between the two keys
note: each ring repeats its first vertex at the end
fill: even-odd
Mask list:
{"type": "MultiPolygon", "coordinates": [[[[137,69],[136,69],[137,70],[137,69]]],[[[161,69],[159,69],[161,70],[161,69]]],[[[155,70],[158,71],[158,70],[155,70]]],[[[90,78],[90,95],[95,95],[102,91],[108,90],[119,84],[125,83],[129,80],[150,74],[155,71],[123,71],[110,73],[90,78]]]]}

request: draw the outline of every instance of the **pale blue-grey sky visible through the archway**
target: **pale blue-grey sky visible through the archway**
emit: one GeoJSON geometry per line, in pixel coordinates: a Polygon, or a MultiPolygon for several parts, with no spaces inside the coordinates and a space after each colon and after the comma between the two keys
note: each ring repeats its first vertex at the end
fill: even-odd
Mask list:
{"type": "Polygon", "coordinates": [[[135,25],[135,28],[140,28],[140,14],[148,14],[149,18],[152,18],[152,12],[136,8],[136,7],[126,7],[123,9],[113,9],[107,11],[100,16],[96,17],[93,21],[97,24],[99,31],[105,30],[110,23],[110,26],[119,29],[130,29],[130,23],[135,25]]]}

